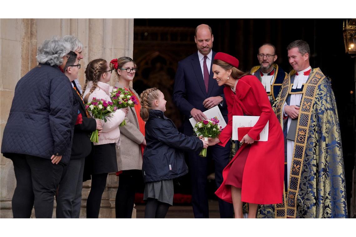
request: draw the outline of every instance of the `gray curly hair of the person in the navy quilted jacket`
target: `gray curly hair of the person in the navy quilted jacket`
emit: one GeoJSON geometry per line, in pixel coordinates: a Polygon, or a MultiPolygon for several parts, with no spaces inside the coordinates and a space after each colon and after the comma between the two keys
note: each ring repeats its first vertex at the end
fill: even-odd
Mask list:
{"type": "Polygon", "coordinates": [[[70,44],[53,37],[52,39],[46,39],[40,47],[37,49],[36,59],[38,63],[53,65],[61,65],[63,63],[63,57],[70,51],[70,44]]]}

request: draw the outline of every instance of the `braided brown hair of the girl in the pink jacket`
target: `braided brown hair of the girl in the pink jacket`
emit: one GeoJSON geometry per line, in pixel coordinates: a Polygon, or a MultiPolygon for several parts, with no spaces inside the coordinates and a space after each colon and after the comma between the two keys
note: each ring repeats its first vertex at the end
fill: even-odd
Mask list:
{"type": "Polygon", "coordinates": [[[90,61],[90,63],[87,65],[87,68],[85,69],[85,84],[83,87],[82,96],[84,95],[85,89],[87,88],[88,81],[93,81],[93,86],[91,87],[87,96],[85,96],[84,102],[88,102],[88,97],[95,90],[101,75],[103,75],[108,70],[108,68],[106,68],[107,63],[108,62],[105,59],[98,58],[90,61]]]}

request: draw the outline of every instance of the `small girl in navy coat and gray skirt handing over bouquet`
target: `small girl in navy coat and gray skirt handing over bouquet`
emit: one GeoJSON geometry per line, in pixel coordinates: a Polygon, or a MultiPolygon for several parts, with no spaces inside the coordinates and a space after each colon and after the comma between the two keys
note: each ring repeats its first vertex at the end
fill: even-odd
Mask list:
{"type": "Polygon", "coordinates": [[[145,218],[164,218],[173,205],[173,179],[188,173],[183,150],[199,152],[208,147],[208,142],[178,132],[172,120],[163,114],[166,100],[157,88],[143,91],[140,99],[140,115],[147,121],[142,163],[145,218]]]}

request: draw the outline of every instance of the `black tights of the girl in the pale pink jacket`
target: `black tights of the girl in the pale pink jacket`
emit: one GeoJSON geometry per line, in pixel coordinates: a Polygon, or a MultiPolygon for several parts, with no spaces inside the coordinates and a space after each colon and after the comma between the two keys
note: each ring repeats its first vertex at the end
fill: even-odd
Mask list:
{"type": "Polygon", "coordinates": [[[106,186],[107,177],[108,173],[91,175],[91,189],[87,200],[87,218],[99,217],[101,196],[106,186]]]}

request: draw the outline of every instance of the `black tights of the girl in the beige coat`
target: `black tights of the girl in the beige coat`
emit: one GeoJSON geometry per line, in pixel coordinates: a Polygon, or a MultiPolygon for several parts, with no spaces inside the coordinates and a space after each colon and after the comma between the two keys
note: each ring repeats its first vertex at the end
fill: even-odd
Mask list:
{"type": "Polygon", "coordinates": [[[140,170],[127,170],[120,174],[115,199],[116,218],[131,218],[139,176],[142,176],[140,170]]]}

